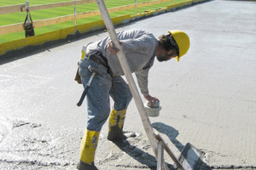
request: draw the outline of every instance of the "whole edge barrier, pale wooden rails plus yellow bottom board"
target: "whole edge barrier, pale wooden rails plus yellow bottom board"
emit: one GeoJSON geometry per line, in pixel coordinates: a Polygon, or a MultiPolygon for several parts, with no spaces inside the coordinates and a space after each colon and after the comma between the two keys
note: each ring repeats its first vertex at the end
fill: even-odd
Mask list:
{"type": "MultiPolygon", "coordinates": [[[[32,7],[29,7],[29,10],[65,7],[65,6],[74,5],[74,4],[75,4],[74,7],[76,7],[77,4],[95,2],[95,0],[75,0],[75,1],[77,1],[78,3],[74,3],[74,2],[50,3],[50,4],[32,6],[32,7]]],[[[138,20],[148,15],[161,14],[161,13],[165,13],[166,11],[175,10],[176,8],[183,8],[195,3],[206,2],[209,0],[187,0],[187,1],[183,1],[182,3],[174,3],[173,1],[174,0],[154,0],[154,1],[145,2],[145,3],[137,3],[137,0],[135,0],[135,4],[129,4],[129,5],[119,6],[115,8],[108,8],[108,13],[111,14],[114,12],[122,12],[123,10],[126,10],[126,9],[135,9],[134,14],[131,14],[131,11],[130,11],[129,14],[123,13],[123,14],[119,14],[118,17],[112,18],[114,25],[120,25],[123,23],[130,22],[131,20],[138,20]],[[171,1],[172,3],[168,4],[168,2],[171,2],[171,1]],[[158,3],[165,3],[166,5],[161,5],[161,8],[159,8],[160,5],[157,5],[157,7],[154,6],[154,9],[151,9],[151,10],[146,10],[145,8],[143,8],[143,10],[141,10],[143,12],[137,14],[137,9],[141,7],[158,4],[158,3]]],[[[17,12],[25,12],[25,11],[26,11],[26,5],[24,4],[0,7],[0,14],[10,14],[10,13],[17,13],[17,12]]],[[[80,19],[84,19],[90,16],[96,16],[96,15],[99,15],[99,16],[101,15],[99,10],[80,13],[80,14],[74,13],[74,14],[59,16],[59,17],[45,19],[45,20],[34,20],[33,25],[35,26],[35,28],[39,28],[43,26],[55,26],[55,24],[58,24],[61,22],[67,22],[72,20],[76,21],[76,20],[80,20],[80,19]]],[[[81,21],[84,23],[84,20],[81,20],[81,21]]],[[[24,51],[31,50],[32,47],[41,46],[46,42],[55,42],[58,40],[62,41],[64,39],[77,37],[80,34],[84,34],[86,32],[96,31],[104,28],[105,28],[104,22],[101,19],[101,17],[99,17],[99,20],[86,22],[84,24],[80,24],[79,26],[74,25],[74,26],[61,27],[58,30],[47,31],[45,33],[38,33],[32,37],[23,37],[23,36],[18,37],[15,40],[9,40],[8,42],[0,43],[0,58],[3,56],[9,56],[9,54],[12,55],[12,54],[20,53],[20,51],[22,50],[24,51]]],[[[44,27],[42,29],[44,29],[44,27]]],[[[15,34],[15,31],[18,31],[17,34],[21,36],[19,32],[24,31],[23,23],[13,24],[8,26],[0,26],[0,35],[2,35],[2,37],[7,37],[9,35],[15,34]]],[[[37,32],[38,31],[36,31],[36,33],[37,32]]]]}

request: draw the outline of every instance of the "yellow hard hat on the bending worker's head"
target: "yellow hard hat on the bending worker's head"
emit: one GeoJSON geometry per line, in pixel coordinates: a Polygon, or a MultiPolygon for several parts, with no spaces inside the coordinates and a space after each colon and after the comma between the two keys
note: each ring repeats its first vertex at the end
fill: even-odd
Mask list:
{"type": "Polygon", "coordinates": [[[168,32],[172,34],[175,42],[177,42],[179,56],[175,57],[175,59],[179,61],[179,58],[189,51],[189,36],[185,32],[179,30],[172,30],[168,32]]]}

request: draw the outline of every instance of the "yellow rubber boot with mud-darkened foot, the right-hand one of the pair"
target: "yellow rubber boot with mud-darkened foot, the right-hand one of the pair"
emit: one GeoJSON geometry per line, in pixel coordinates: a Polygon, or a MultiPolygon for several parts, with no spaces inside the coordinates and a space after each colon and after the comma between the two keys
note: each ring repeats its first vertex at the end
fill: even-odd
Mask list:
{"type": "Polygon", "coordinates": [[[126,110],[112,110],[108,122],[108,140],[115,141],[126,139],[123,133],[126,110]]]}

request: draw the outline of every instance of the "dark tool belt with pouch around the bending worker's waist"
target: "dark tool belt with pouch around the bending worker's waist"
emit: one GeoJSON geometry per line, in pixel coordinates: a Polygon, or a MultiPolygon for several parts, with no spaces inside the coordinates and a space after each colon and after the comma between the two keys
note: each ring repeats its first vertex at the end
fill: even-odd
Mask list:
{"type": "MultiPolygon", "coordinates": [[[[112,71],[111,71],[110,67],[108,66],[108,59],[106,59],[102,55],[102,52],[99,51],[96,53],[96,55],[95,54],[90,55],[90,56],[85,55],[84,59],[88,59],[88,58],[93,60],[94,62],[96,62],[96,64],[103,65],[104,67],[106,67],[108,74],[110,74],[110,76],[112,77],[112,71]]],[[[79,63],[78,63],[78,65],[79,65],[79,63]]],[[[77,74],[76,74],[74,80],[77,81],[79,84],[82,83],[81,77],[79,76],[79,68],[78,68],[78,71],[77,71],[77,74]]]]}

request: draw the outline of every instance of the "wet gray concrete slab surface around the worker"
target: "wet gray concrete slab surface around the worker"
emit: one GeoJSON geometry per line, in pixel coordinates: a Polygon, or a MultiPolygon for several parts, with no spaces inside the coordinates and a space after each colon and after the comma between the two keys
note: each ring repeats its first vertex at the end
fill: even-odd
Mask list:
{"type": "MultiPolygon", "coordinates": [[[[150,94],[162,105],[150,122],[176,156],[190,143],[212,169],[256,169],[255,17],[256,2],[216,0],[117,28],[190,37],[179,63],[155,61],[149,74],[150,94]]],[[[82,46],[106,36],[96,31],[0,61],[0,169],[75,169],[86,105],[76,106],[83,88],[73,78],[82,46]]],[[[104,125],[96,166],[155,169],[134,101],[124,129],[136,137],[113,144],[104,125]]]]}

